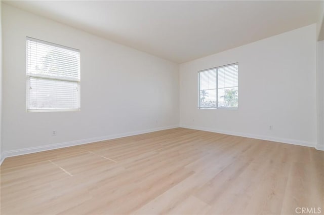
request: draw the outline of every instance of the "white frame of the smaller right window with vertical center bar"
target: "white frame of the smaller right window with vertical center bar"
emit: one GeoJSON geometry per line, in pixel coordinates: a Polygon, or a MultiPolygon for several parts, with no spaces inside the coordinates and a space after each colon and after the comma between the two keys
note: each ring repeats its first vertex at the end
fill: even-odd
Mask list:
{"type": "Polygon", "coordinates": [[[237,88],[237,92],[238,92],[238,62],[236,63],[231,63],[231,64],[226,64],[226,65],[222,65],[222,66],[217,66],[217,67],[213,67],[213,68],[209,68],[209,69],[204,69],[204,70],[199,70],[198,71],[198,104],[197,104],[197,108],[198,109],[232,109],[232,110],[237,110],[238,109],[238,100],[239,100],[239,97],[237,96],[237,107],[219,107],[218,106],[218,91],[219,91],[219,88],[218,88],[218,69],[220,68],[223,68],[223,67],[228,67],[228,66],[232,66],[232,65],[237,65],[237,85],[236,85],[236,88],[237,88]],[[206,72],[206,71],[210,71],[210,70],[215,70],[216,69],[216,107],[200,107],[200,73],[201,72],[206,72]]]}

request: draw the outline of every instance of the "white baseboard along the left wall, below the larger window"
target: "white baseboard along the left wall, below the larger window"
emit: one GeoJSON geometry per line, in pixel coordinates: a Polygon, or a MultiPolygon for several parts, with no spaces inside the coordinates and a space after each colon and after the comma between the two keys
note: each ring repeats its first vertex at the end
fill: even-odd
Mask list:
{"type": "Polygon", "coordinates": [[[30,154],[30,153],[35,153],[35,152],[48,151],[48,150],[52,150],[52,149],[65,148],[65,147],[69,147],[69,146],[76,146],[76,145],[82,145],[82,144],[87,144],[87,143],[94,143],[94,142],[98,142],[98,141],[111,140],[111,139],[116,139],[116,138],[129,137],[129,136],[133,136],[133,135],[157,132],[157,131],[161,131],[161,130],[176,128],[176,127],[179,127],[179,126],[173,125],[173,126],[166,126],[166,127],[157,127],[157,128],[153,128],[153,129],[136,131],[136,132],[128,132],[128,133],[123,133],[123,134],[108,135],[108,136],[102,136],[102,137],[96,137],[96,138],[88,138],[88,139],[83,139],[83,140],[75,140],[75,141],[56,143],[56,144],[51,144],[51,145],[10,150],[10,151],[4,152],[3,156],[1,156],[1,158],[3,161],[7,157],[30,154]]]}

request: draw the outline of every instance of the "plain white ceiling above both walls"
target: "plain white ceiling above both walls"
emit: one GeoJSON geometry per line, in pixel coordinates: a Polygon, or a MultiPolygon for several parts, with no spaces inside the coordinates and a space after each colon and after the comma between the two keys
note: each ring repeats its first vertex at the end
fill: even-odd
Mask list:
{"type": "Polygon", "coordinates": [[[5,1],[177,63],[316,23],[320,1],[5,1]]]}

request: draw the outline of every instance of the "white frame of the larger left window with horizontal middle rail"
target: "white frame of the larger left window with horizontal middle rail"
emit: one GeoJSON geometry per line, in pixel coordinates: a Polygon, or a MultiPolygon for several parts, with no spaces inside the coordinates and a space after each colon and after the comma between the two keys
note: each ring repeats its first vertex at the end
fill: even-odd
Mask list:
{"type": "Polygon", "coordinates": [[[41,40],[41,39],[36,39],[33,37],[29,37],[26,36],[26,112],[78,112],[81,110],[81,51],[78,49],[74,49],[71,47],[67,47],[67,46],[63,46],[63,45],[59,45],[59,44],[55,44],[53,42],[48,42],[45,40],[41,40]],[[39,42],[41,44],[45,44],[45,45],[49,45],[49,46],[53,46],[53,47],[57,47],[57,48],[61,48],[61,49],[65,49],[65,50],[70,50],[70,51],[74,51],[74,52],[78,52],[79,53],[79,59],[78,59],[78,78],[77,79],[73,79],[73,78],[64,78],[64,77],[55,77],[55,76],[51,76],[51,75],[42,75],[42,74],[30,74],[28,72],[28,50],[27,50],[27,42],[28,40],[30,41],[35,41],[35,42],[39,42]],[[46,80],[57,80],[57,81],[68,81],[68,82],[73,82],[77,84],[77,98],[78,98],[78,107],[77,108],[56,108],[56,109],[28,109],[30,108],[30,105],[28,104],[28,102],[30,101],[30,95],[29,95],[29,90],[30,90],[30,78],[39,78],[39,79],[46,79],[46,80]]]}

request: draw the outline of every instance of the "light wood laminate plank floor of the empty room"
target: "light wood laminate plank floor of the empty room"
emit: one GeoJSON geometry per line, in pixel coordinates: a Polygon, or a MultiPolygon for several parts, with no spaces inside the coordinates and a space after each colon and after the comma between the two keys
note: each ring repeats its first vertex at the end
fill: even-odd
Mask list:
{"type": "Polygon", "coordinates": [[[323,204],[323,151],[186,128],[1,166],[1,214],[323,214],[323,204]]]}

